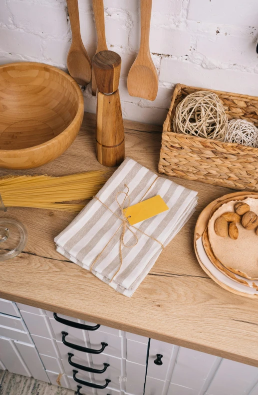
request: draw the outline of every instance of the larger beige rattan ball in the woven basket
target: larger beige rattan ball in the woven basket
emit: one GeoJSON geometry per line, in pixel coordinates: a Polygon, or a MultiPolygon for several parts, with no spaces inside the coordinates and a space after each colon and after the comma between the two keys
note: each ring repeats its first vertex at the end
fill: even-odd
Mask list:
{"type": "Polygon", "coordinates": [[[224,141],[228,117],[216,93],[200,90],[188,94],[176,108],[174,131],[224,141]]]}

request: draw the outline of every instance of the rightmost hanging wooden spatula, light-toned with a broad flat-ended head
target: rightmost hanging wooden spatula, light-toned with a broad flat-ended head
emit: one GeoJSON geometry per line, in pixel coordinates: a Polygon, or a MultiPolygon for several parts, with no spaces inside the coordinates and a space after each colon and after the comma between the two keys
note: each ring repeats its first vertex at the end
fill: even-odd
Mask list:
{"type": "Polygon", "coordinates": [[[154,100],[158,92],[158,74],[150,54],[150,23],[152,0],[141,0],[141,43],[130,68],[127,88],[131,96],[154,100]]]}

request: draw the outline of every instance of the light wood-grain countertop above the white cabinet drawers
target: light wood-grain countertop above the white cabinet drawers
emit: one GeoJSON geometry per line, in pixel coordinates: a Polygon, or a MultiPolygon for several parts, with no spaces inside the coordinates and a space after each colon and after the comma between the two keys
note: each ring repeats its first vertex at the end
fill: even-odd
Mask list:
{"type": "MultiPolygon", "coordinates": [[[[85,114],[78,137],[61,157],[16,173],[64,175],[102,168],[95,158],[94,119],[85,114]]],[[[157,171],[161,127],[124,123],[126,155],[157,171]]],[[[0,175],[8,173],[0,169],[0,175]]],[[[201,269],[194,252],[199,213],[232,190],[173,180],[198,190],[197,210],[131,298],[55,251],[54,236],[74,214],[31,208],[8,209],[8,216],[27,227],[28,242],[16,258],[0,262],[0,297],[258,366],[257,300],[218,286],[201,269]]]]}

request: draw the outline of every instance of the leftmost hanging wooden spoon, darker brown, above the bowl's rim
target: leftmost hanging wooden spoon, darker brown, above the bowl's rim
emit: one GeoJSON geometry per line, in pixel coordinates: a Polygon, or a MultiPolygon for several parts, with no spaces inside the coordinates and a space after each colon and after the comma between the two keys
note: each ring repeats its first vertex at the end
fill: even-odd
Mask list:
{"type": "Polygon", "coordinates": [[[77,0],[66,0],[72,30],[72,43],[67,55],[67,67],[70,75],[80,85],[91,80],[91,61],[83,45],[80,32],[79,9],[77,0]]]}

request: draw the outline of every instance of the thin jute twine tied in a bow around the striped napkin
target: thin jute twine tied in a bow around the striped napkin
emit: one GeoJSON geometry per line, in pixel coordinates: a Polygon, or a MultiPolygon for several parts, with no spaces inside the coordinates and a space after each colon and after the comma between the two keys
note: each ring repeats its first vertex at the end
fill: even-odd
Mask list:
{"type": "MultiPolygon", "coordinates": [[[[142,201],[142,199],[144,198],[144,196],[146,196],[146,194],[148,193],[148,191],[150,190],[150,188],[152,187],[152,185],[156,182],[156,180],[157,180],[158,178],[159,178],[159,176],[157,176],[157,178],[155,178],[155,180],[153,181],[153,183],[151,184],[151,186],[148,188],[148,190],[145,192],[145,194],[143,195],[143,197],[141,198],[140,201],[142,201]]],[[[128,222],[128,219],[127,219],[128,217],[126,216],[126,211],[127,211],[127,208],[130,206],[130,196],[129,196],[129,187],[128,187],[126,184],[125,184],[125,187],[127,188],[127,192],[120,191],[120,192],[118,192],[118,193],[116,194],[116,202],[117,202],[119,208],[121,209],[121,215],[122,215],[122,217],[119,216],[119,215],[117,215],[114,211],[112,211],[112,210],[111,210],[105,203],[103,203],[103,201],[101,201],[97,196],[93,196],[94,199],[98,200],[101,204],[103,204],[109,211],[111,211],[117,218],[121,219],[121,221],[122,221],[121,225],[118,227],[118,229],[115,231],[115,233],[113,234],[113,236],[110,238],[110,240],[107,242],[107,244],[106,244],[106,245],[104,246],[104,248],[99,252],[99,254],[96,256],[96,258],[94,259],[94,261],[93,261],[93,262],[91,263],[91,265],[90,265],[90,270],[92,270],[92,269],[93,269],[93,266],[94,266],[94,264],[96,263],[96,261],[98,260],[99,256],[100,256],[100,255],[102,254],[102,252],[106,249],[106,247],[107,247],[108,244],[111,242],[111,240],[115,237],[115,235],[117,234],[117,232],[119,231],[119,229],[122,228],[122,232],[121,232],[120,240],[119,240],[119,258],[120,258],[120,264],[119,264],[118,269],[116,270],[115,274],[113,275],[113,277],[111,278],[110,281],[113,280],[113,278],[116,276],[116,274],[119,272],[119,270],[120,270],[120,268],[121,268],[121,266],[122,266],[122,263],[123,263],[122,247],[124,246],[124,247],[126,247],[126,248],[133,248],[133,247],[138,243],[138,237],[137,237],[136,231],[139,231],[139,232],[141,232],[142,234],[145,234],[146,236],[150,237],[152,240],[157,241],[157,242],[161,245],[162,249],[164,248],[164,245],[162,244],[162,242],[160,242],[160,241],[157,240],[156,238],[150,236],[149,234],[146,234],[144,231],[142,231],[141,229],[138,229],[137,227],[131,225],[131,224],[128,222]],[[118,201],[118,196],[119,196],[120,194],[122,194],[122,193],[125,194],[125,197],[124,197],[122,203],[119,203],[119,201],[118,201]],[[126,199],[128,199],[128,205],[127,205],[126,207],[124,207],[124,204],[125,204],[125,202],[126,202],[126,199]],[[133,230],[132,230],[132,227],[133,227],[136,231],[133,231],[133,230]],[[127,245],[127,244],[124,242],[124,236],[125,236],[126,229],[128,229],[128,230],[132,233],[132,235],[133,235],[133,237],[134,237],[134,239],[135,239],[135,243],[134,243],[134,244],[127,245]]]]}

